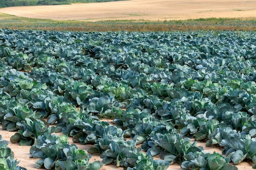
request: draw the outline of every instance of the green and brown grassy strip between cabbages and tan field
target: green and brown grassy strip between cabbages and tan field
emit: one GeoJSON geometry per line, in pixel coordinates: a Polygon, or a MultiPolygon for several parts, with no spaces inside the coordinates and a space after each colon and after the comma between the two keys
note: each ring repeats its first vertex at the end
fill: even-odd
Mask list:
{"type": "Polygon", "coordinates": [[[0,13],[0,28],[36,29],[54,31],[193,31],[231,30],[256,31],[255,18],[200,18],[196,20],[171,20],[151,22],[146,20],[116,21],[54,21],[22,18],[0,13]]]}

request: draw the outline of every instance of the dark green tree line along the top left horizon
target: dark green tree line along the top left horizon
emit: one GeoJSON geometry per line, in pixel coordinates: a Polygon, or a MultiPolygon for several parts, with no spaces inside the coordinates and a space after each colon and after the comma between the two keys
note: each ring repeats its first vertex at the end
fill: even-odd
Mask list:
{"type": "Polygon", "coordinates": [[[33,6],[33,5],[63,5],[71,3],[110,2],[120,0],[0,0],[0,8],[33,6]]]}

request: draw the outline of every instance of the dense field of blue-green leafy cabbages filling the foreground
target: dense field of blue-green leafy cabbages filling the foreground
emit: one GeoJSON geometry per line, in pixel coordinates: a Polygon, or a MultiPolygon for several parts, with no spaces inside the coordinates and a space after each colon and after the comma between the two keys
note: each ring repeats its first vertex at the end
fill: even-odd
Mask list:
{"type": "MultiPolygon", "coordinates": [[[[252,31],[0,29],[2,129],[31,146],[36,168],[256,168],[254,44],[252,31]],[[102,161],[89,163],[95,153],[102,161]]],[[[1,139],[0,169],[26,170],[13,154],[1,139]]]]}

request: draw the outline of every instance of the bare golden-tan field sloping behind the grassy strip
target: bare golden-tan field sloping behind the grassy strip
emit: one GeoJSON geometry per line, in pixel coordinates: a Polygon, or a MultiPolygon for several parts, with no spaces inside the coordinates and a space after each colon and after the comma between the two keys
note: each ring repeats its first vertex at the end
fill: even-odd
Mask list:
{"type": "Polygon", "coordinates": [[[52,20],[186,20],[196,18],[256,18],[255,0],[128,0],[71,5],[8,7],[20,17],[52,20]]]}

